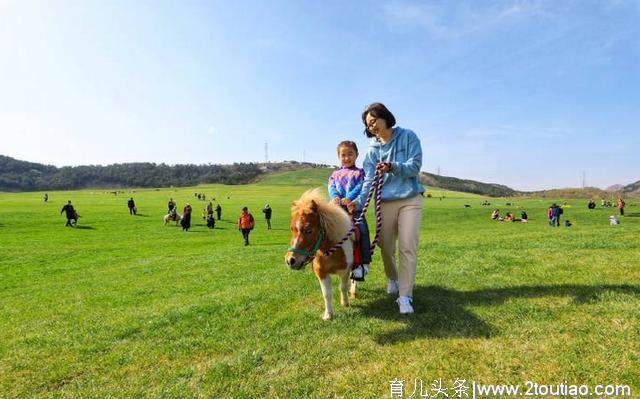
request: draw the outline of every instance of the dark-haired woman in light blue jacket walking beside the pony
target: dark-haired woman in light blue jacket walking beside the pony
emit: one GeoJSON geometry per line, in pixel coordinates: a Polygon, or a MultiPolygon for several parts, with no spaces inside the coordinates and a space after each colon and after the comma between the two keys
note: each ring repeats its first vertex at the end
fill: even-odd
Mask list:
{"type": "Polygon", "coordinates": [[[413,285],[424,205],[424,187],[420,184],[422,146],[413,131],[395,126],[396,119],[384,104],[368,106],[362,113],[362,122],[364,133],[371,141],[364,158],[362,192],[350,208],[362,206],[376,170],[383,173],[380,250],[388,279],[387,292],[398,295],[400,313],[413,313],[413,285]]]}

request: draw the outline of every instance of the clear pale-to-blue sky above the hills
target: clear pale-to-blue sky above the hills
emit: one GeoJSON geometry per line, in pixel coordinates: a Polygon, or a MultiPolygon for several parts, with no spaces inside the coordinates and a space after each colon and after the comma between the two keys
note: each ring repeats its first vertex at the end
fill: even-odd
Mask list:
{"type": "Polygon", "coordinates": [[[385,103],[423,170],[640,179],[640,0],[0,0],[0,154],[335,164],[385,103]]]}

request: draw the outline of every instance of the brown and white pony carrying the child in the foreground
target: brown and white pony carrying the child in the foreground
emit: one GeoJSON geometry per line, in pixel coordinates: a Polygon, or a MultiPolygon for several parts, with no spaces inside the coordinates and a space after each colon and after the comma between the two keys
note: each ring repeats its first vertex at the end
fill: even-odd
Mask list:
{"type": "MultiPolygon", "coordinates": [[[[324,314],[329,320],[333,316],[331,274],[340,277],[340,303],[349,306],[349,275],[353,266],[353,239],[330,256],[324,253],[340,241],[351,229],[351,218],[338,205],[328,203],[322,194],[324,190],[308,190],[291,207],[291,247],[284,256],[287,266],[301,270],[313,261],[312,270],[318,277],[324,314]]],[[[351,296],[357,295],[356,282],[351,283],[351,296]]]]}

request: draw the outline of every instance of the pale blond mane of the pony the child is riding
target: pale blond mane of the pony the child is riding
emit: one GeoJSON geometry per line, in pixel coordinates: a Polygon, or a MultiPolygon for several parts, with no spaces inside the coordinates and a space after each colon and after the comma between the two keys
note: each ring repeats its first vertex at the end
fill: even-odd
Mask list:
{"type": "Polygon", "coordinates": [[[338,205],[327,202],[324,190],[320,187],[305,191],[298,201],[293,203],[291,213],[313,213],[313,202],[318,206],[318,215],[327,238],[336,242],[351,229],[351,219],[338,205]]]}

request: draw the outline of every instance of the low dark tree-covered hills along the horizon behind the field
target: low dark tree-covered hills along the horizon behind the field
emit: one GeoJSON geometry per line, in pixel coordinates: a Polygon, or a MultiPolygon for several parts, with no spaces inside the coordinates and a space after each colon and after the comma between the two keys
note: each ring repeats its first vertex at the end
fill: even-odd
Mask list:
{"type": "MultiPolygon", "coordinates": [[[[322,185],[334,167],[296,161],[233,165],[166,165],[148,162],[107,166],[65,166],[17,160],[0,155],[0,191],[75,190],[83,188],[186,187],[198,184],[322,185]],[[318,183],[320,182],[320,183],[318,183]]],[[[421,172],[422,184],[489,197],[605,198],[598,188],[524,192],[510,187],[421,172]]],[[[622,187],[625,196],[640,196],[640,181],[622,187]]]]}

